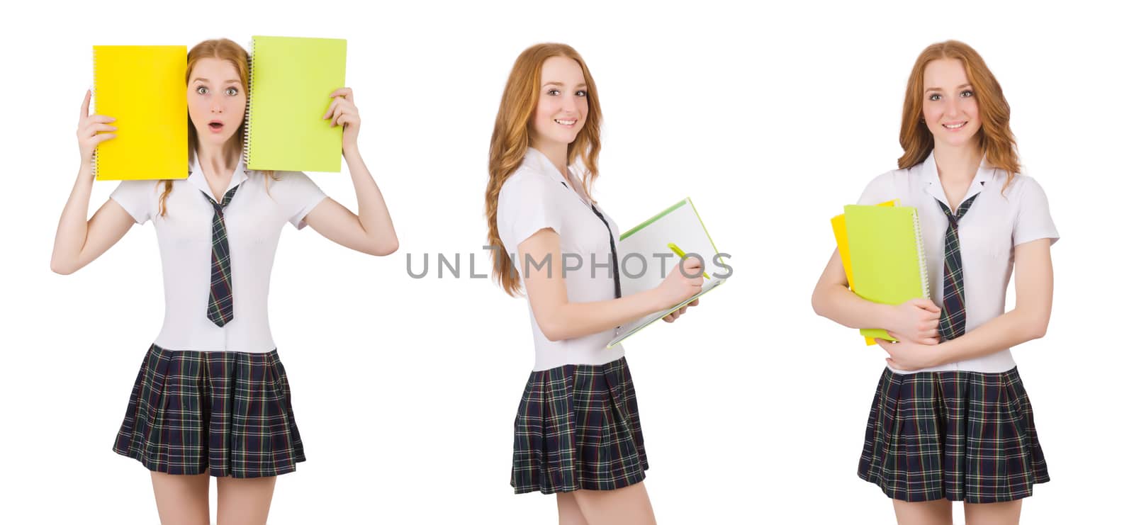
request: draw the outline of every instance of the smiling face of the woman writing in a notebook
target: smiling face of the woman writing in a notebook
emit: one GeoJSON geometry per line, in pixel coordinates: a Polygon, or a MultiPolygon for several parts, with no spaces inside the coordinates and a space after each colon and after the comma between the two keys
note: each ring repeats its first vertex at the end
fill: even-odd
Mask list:
{"type": "Polygon", "coordinates": [[[566,57],[543,61],[540,98],[532,116],[534,142],[540,145],[567,145],[583,129],[587,112],[587,86],[583,68],[566,57]]]}

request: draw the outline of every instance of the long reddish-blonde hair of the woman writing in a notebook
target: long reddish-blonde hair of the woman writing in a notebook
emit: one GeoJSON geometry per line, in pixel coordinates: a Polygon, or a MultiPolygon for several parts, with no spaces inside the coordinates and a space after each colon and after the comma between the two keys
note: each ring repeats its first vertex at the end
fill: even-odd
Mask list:
{"type": "Polygon", "coordinates": [[[570,45],[544,43],[535,44],[524,50],[516,58],[500,98],[500,109],[497,111],[496,126],[492,128],[492,143],[489,149],[489,184],[484,192],[484,214],[489,222],[489,245],[492,246],[492,278],[496,279],[508,295],[519,291],[519,276],[513,271],[511,257],[500,240],[497,229],[497,201],[505,180],[519,168],[524,154],[531,145],[532,115],[540,100],[540,79],[543,62],[551,57],[569,58],[583,69],[583,79],[587,87],[587,116],[575,142],[567,145],[567,163],[582,161],[583,192],[591,197],[591,185],[599,176],[599,127],[602,122],[602,111],[599,108],[599,91],[594,78],[578,54],[570,45]]]}

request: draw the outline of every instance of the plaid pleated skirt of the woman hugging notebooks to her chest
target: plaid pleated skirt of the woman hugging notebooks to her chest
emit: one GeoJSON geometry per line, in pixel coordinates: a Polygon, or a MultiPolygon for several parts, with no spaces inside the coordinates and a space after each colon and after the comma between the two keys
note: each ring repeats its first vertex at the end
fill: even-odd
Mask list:
{"type": "Polygon", "coordinates": [[[1050,481],[1024,384],[1002,373],[887,369],[866,422],[858,476],[903,501],[1032,496],[1050,481]]]}

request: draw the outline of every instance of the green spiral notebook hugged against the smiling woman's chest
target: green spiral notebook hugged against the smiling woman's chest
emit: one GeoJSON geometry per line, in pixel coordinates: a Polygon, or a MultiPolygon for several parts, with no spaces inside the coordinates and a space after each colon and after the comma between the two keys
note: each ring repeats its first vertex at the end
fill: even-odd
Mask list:
{"type": "MultiPolygon", "coordinates": [[[[929,298],[929,272],[921,222],[913,206],[844,206],[854,293],[885,304],[929,298]]],[[[862,329],[865,337],[894,340],[882,329],[862,329]]]]}

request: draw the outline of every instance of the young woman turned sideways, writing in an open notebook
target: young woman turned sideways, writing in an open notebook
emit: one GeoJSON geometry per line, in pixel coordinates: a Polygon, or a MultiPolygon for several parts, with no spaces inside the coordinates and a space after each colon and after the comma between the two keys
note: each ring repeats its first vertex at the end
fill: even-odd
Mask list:
{"type": "Polygon", "coordinates": [[[511,485],[556,493],[562,524],[653,523],[634,383],[621,346],[606,345],[619,325],[695,295],[701,263],[687,259],[659,287],[621,296],[618,226],[591,197],[601,118],[574,49],[538,44],[516,59],[485,192],[493,277],[509,295],[523,283],[535,340],[511,485]]]}

